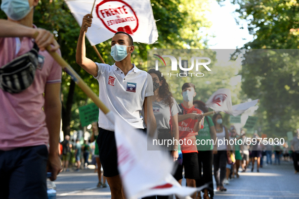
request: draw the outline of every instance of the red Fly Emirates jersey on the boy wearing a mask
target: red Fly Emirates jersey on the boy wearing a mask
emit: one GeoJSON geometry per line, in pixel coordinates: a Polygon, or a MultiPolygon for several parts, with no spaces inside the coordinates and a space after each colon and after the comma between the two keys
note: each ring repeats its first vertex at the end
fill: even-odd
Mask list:
{"type": "MultiPolygon", "coordinates": [[[[188,113],[197,113],[201,114],[203,113],[200,109],[196,107],[191,107],[190,109],[187,109],[186,107],[181,104],[182,112],[179,115],[185,115],[188,113]]],[[[198,132],[194,132],[193,128],[197,120],[192,120],[191,118],[187,120],[183,120],[179,122],[179,137],[180,140],[184,140],[186,138],[186,141],[181,145],[181,150],[183,154],[186,153],[197,153],[197,147],[196,147],[196,137],[195,135],[198,134],[198,132]]],[[[201,124],[201,128],[203,128],[203,124],[201,124]]]]}

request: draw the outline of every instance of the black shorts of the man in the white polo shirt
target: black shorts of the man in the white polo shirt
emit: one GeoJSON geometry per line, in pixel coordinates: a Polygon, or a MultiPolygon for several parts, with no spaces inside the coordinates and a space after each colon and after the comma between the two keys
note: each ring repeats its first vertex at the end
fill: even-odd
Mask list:
{"type": "MultiPolygon", "coordinates": [[[[146,132],[146,129],[141,129],[146,132]]],[[[100,162],[103,167],[103,175],[105,177],[113,177],[119,174],[117,169],[117,149],[114,131],[99,128],[97,138],[99,147],[100,162]]]]}

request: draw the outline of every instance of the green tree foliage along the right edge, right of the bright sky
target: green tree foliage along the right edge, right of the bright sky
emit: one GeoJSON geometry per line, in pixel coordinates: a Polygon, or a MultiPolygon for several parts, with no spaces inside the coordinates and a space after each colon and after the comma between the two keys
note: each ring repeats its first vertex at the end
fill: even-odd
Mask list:
{"type": "Polygon", "coordinates": [[[248,31],[254,35],[244,48],[267,49],[247,51],[244,55],[240,71],[242,90],[250,98],[260,98],[257,114],[261,130],[285,136],[287,131],[299,128],[299,4],[294,0],[231,3],[239,5],[237,21],[247,20],[248,31]]]}

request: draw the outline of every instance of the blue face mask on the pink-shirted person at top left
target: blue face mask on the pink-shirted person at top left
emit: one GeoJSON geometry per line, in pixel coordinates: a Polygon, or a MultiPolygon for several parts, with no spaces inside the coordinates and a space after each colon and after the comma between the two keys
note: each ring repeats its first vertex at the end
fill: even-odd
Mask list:
{"type": "Polygon", "coordinates": [[[1,4],[1,10],[14,21],[25,18],[32,8],[33,6],[30,8],[29,2],[24,0],[2,0],[1,4]]]}

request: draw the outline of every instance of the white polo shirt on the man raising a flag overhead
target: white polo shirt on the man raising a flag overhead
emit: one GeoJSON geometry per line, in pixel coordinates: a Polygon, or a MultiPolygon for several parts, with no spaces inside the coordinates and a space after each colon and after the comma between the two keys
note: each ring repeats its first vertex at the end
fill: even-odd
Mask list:
{"type": "MultiPolygon", "coordinates": [[[[126,76],[114,64],[98,65],[99,99],[118,116],[129,122],[134,128],[143,129],[143,103],[145,97],[154,95],[151,76],[139,70],[134,64],[126,76]]],[[[114,125],[100,110],[99,127],[114,131],[114,125]]]]}

